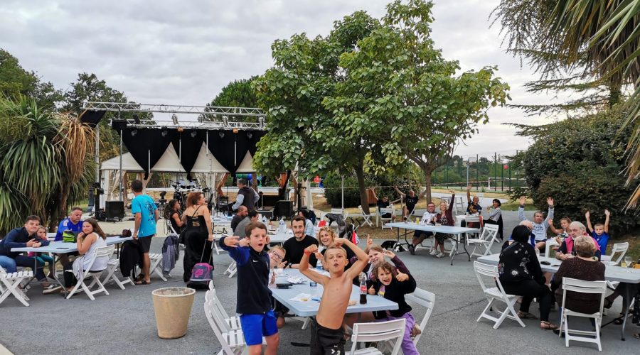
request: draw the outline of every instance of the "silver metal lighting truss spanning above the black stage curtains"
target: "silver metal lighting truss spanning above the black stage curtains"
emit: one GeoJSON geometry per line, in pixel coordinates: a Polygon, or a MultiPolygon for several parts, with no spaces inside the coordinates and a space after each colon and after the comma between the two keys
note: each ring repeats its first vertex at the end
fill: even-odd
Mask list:
{"type": "Polygon", "coordinates": [[[117,111],[119,112],[160,112],[164,114],[198,114],[202,117],[213,119],[212,121],[183,121],[175,124],[174,121],[156,121],[154,124],[145,124],[144,120],[127,119],[127,126],[137,128],[156,129],[239,129],[239,130],[265,130],[265,112],[262,109],[251,107],[213,107],[213,106],[185,106],[165,104],[136,104],[127,102],[85,102],[83,110],[92,111],[117,111]],[[241,122],[229,121],[229,116],[247,116],[255,121],[241,122]],[[138,121],[139,123],[137,123],[138,121]]]}

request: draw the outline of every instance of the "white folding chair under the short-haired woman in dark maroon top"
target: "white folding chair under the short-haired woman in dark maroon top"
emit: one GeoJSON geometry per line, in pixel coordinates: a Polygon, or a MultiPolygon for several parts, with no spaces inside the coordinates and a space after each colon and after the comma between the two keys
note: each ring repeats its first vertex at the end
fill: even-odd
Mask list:
{"type": "Polygon", "coordinates": [[[562,278],[562,318],[560,319],[560,335],[562,334],[562,332],[565,332],[565,346],[569,347],[569,341],[575,340],[576,342],[595,343],[598,345],[598,351],[602,351],[602,344],[600,344],[600,324],[602,323],[602,307],[604,306],[604,293],[606,292],[606,281],[585,281],[577,280],[575,278],[562,278]],[[565,301],[567,300],[567,291],[588,293],[591,295],[599,294],[600,308],[598,312],[587,315],[587,313],[567,310],[567,308],[565,307],[565,301]],[[568,316],[594,318],[594,332],[568,329],[568,316]],[[577,337],[572,334],[586,335],[587,337],[577,337]]]}

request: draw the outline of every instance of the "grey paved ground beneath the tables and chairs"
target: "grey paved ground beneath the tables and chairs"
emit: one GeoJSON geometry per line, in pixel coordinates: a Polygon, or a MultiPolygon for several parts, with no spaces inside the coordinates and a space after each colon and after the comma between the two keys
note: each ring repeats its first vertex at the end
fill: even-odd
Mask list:
{"type": "MultiPolygon", "coordinates": [[[[506,212],[505,220],[505,230],[509,231],[517,222],[516,212],[506,212]]],[[[122,230],[122,224],[103,226],[107,230],[122,230]]],[[[161,238],[154,240],[152,251],[158,251],[161,243],[161,238]]],[[[495,330],[487,321],[476,322],[486,300],[471,263],[463,256],[457,256],[454,266],[449,266],[446,258],[428,256],[426,250],[418,251],[416,256],[400,253],[400,258],[415,275],[418,287],[436,294],[434,312],[418,344],[422,354],[597,354],[597,348],[592,344],[572,343],[570,348],[565,348],[564,339],[538,329],[536,320],[526,320],[526,328],[506,320],[495,330]]],[[[215,256],[215,285],[223,305],[234,314],[237,278],[222,275],[229,262],[226,254],[215,256]]],[[[110,295],[99,295],[93,302],[84,295],[72,300],[41,295],[36,286],[29,292],[30,307],[23,307],[11,298],[0,305],[0,343],[14,354],[51,351],[61,354],[215,353],[220,346],[203,313],[203,292],[196,294],[185,337],[164,340],[156,336],[151,290],[183,285],[181,273],[182,268],[178,265],[172,273],[174,278],[166,283],[153,278],[152,285],[129,286],[127,290],[110,286],[110,295]]],[[[611,314],[617,314],[619,310],[618,301],[611,314]]],[[[538,315],[535,304],[531,312],[538,315]]],[[[420,320],[424,312],[416,307],[413,314],[420,320]]],[[[552,312],[551,317],[557,318],[557,312],[552,312]]],[[[605,318],[610,319],[611,316],[605,318]]],[[[309,332],[302,331],[301,325],[289,321],[281,329],[278,354],[308,352],[308,348],[291,345],[291,342],[308,341],[309,332]]],[[[627,340],[621,342],[620,326],[605,327],[602,330],[604,353],[639,354],[640,341],[631,337],[634,332],[640,332],[640,327],[628,325],[627,340]]]]}

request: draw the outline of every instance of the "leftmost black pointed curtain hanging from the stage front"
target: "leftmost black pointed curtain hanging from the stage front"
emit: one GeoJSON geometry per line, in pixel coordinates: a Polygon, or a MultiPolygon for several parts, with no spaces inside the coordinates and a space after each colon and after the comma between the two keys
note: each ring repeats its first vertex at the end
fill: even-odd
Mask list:
{"type": "Polygon", "coordinates": [[[149,176],[149,167],[153,168],[176,136],[175,129],[137,129],[127,127],[122,133],[122,143],[144,170],[144,180],[149,176]],[[164,136],[163,136],[163,133],[164,136]],[[149,159],[150,153],[150,159],[149,159]]]}

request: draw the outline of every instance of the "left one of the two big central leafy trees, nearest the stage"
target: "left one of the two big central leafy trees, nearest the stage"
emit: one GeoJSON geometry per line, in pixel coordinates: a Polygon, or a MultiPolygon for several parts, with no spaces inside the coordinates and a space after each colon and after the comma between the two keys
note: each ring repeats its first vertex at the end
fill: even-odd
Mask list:
{"type": "Polygon", "coordinates": [[[273,43],[274,67],[253,82],[269,126],[254,157],[257,170],[298,170],[303,178],[355,170],[361,203],[368,210],[363,169],[371,143],[366,137],[345,137],[342,122],[323,100],[348,75],[338,65],[340,55],[356,50],[358,40],[378,26],[377,20],[358,11],[336,21],[326,37],[310,39],[302,33],[273,43]]]}

